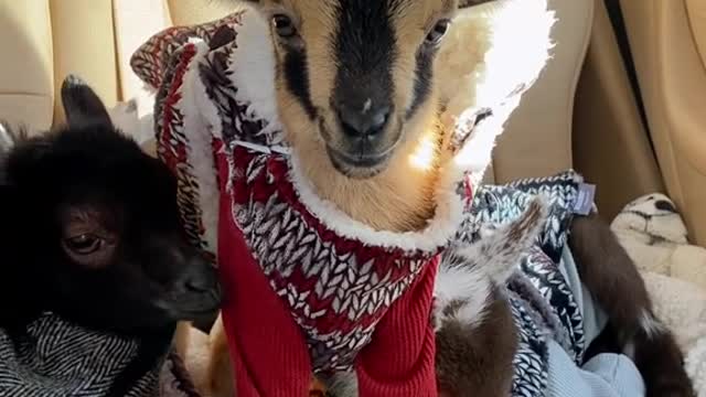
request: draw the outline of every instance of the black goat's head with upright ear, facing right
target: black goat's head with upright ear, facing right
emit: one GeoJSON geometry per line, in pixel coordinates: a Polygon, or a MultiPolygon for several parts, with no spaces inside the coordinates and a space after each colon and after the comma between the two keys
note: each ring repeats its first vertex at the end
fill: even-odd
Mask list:
{"type": "Polygon", "coordinates": [[[62,98],[69,126],[19,140],[0,167],[0,326],[52,311],[141,334],[215,312],[216,273],[182,234],[169,169],[117,131],[81,81],[67,79],[62,98]],[[115,236],[109,255],[72,256],[69,213],[115,236]]]}

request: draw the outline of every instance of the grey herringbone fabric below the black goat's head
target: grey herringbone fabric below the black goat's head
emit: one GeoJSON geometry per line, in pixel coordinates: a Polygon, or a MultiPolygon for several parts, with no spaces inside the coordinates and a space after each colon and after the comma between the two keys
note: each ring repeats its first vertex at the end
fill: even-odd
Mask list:
{"type": "Polygon", "coordinates": [[[44,313],[0,329],[0,397],[197,397],[171,332],[136,340],[44,313]]]}

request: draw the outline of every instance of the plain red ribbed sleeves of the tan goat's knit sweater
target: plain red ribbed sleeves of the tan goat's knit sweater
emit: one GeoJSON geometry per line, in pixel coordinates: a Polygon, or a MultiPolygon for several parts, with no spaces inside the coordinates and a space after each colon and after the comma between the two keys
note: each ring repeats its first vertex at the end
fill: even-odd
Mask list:
{"type": "MultiPolygon", "coordinates": [[[[227,161],[220,161],[220,174],[227,174],[227,161]]],[[[306,396],[313,374],[304,334],[233,219],[232,194],[225,185],[221,192],[218,264],[226,297],[222,314],[237,396],[306,396]]],[[[361,397],[437,396],[430,321],[437,258],[386,311],[372,342],[359,354],[361,397]]]]}

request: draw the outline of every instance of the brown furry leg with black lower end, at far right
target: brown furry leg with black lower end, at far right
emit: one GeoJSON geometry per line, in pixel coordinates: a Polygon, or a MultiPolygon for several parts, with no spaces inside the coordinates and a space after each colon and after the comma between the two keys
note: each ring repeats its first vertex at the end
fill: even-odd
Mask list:
{"type": "Polygon", "coordinates": [[[632,356],[648,396],[695,396],[674,335],[654,319],[644,280],[608,224],[597,214],[575,219],[569,246],[581,281],[609,318],[612,344],[632,356]]]}

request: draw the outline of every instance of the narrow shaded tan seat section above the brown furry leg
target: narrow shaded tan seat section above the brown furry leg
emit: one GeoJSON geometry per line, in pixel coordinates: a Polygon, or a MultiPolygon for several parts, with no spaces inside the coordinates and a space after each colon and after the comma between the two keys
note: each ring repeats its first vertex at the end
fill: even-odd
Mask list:
{"type": "Polygon", "coordinates": [[[576,94],[574,163],[598,184],[598,206],[611,219],[664,185],[603,0],[595,0],[592,28],[576,94]]]}

